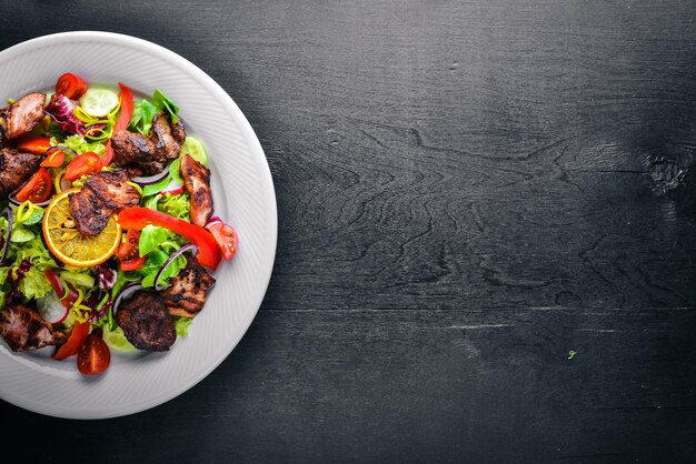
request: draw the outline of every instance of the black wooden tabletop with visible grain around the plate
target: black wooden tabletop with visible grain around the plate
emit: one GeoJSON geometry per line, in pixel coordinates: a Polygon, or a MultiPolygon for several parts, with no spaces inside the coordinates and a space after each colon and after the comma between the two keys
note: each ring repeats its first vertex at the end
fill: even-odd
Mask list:
{"type": "Polygon", "coordinates": [[[696,460],[694,1],[108,3],[3,1],[0,49],[117,31],[208,72],[268,157],[277,264],[193,389],[105,421],[1,403],[4,448],[696,460]]]}

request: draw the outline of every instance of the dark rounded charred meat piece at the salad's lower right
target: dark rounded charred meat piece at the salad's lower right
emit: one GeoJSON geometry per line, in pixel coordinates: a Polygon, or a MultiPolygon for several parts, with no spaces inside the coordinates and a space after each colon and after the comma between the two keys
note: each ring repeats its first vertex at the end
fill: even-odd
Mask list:
{"type": "Polygon", "coordinates": [[[167,306],[156,293],[136,292],[132,299],[121,303],[116,322],[138,350],[168,351],[177,340],[167,306]]]}

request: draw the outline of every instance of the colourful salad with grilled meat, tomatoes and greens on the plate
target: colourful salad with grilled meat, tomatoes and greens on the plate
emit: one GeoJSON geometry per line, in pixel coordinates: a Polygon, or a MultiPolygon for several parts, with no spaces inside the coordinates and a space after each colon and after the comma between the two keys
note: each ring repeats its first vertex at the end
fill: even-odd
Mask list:
{"type": "Polygon", "coordinates": [[[208,155],[160,90],[62,74],[0,109],[0,335],[84,375],[168,351],[235,256],[208,155]]]}

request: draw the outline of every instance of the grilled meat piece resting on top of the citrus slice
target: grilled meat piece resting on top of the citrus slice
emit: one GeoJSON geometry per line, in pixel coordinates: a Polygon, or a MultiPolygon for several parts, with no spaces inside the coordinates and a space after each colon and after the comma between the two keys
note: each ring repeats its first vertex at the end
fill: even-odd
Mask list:
{"type": "Polygon", "coordinates": [[[99,172],[84,182],[78,193],[68,195],[78,231],[95,236],[109,223],[109,218],[140,201],[138,190],[128,184],[128,172],[122,169],[99,172]]]}

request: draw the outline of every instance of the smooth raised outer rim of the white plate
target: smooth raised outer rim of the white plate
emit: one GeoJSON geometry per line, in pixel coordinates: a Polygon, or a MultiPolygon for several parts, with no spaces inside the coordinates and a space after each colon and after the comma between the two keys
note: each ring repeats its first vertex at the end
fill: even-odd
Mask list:
{"type": "MultiPolygon", "coordinates": [[[[205,85],[206,90],[210,91],[212,94],[219,98],[220,104],[222,104],[226,110],[228,110],[232,117],[242,122],[238,125],[239,131],[243,135],[243,139],[250,145],[251,151],[257,152],[261,157],[257,160],[257,164],[261,168],[258,171],[259,179],[258,181],[262,183],[262,188],[268,190],[270,193],[269,199],[267,200],[267,205],[270,206],[268,211],[264,211],[262,214],[269,220],[271,225],[268,230],[268,242],[272,245],[270,253],[270,260],[266,263],[264,269],[261,269],[262,274],[265,275],[264,281],[259,281],[259,289],[262,289],[259,292],[259,299],[253,304],[253,310],[249,312],[249,319],[247,322],[243,322],[243,325],[240,324],[241,330],[239,333],[239,337],[233,341],[229,345],[227,350],[225,350],[219,359],[209,363],[207,369],[202,371],[202,373],[190,380],[189,382],[185,382],[179,387],[172,389],[168,394],[158,397],[157,400],[148,400],[143,403],[138,403],[136,405],[130,405],[127,408],[110,408],[108,411],[102,410],[79,410],[79,411],[67,411],[64,407],[54,407],[52,405],[47,405],[44,403],[40,403],[37,401],[31,401],[29,399],[23,399],[21,396],[14,395],[7,391],[0,391],[0,399],[7,401],[10,404],[13,404],[18,407],[24,408],[27,411],[31,411],[37,414],[53,416],[59,418],[74,418],[74,420],[100,420],[100,418],[112,418],[112,417],[121,417],[126,415],[131,415],[140,412],[145,412],[162,405],[177,396],[186,393],[188,390],[192,389],[195,385],[205,380],[212,371],[215,371],[229,355],[230,353],[238,346],[239,342],[249,327],[256,320],[258,312],[260,311],[264,299],[266,297],[266,293],[268,292],[268,286],[270,284],[270,279],[272,276],[272,270],[275,268],[276,253],[278,246],[278,206],[277,206],[277,196],[275,184],[270,171],[270,167],[268,164],[268,158],[266,157],[266,152],[261,147],[261,143],[258,140],[251,123],[246,118],[243,112],[237,105],[237,102],[232,99],[232,97],[222,89],[222,87],[212,79],[208,73],[206,73],[202,69],[200,69],[197,64],[191,62],[190,60],[183,58],[182,56],[176,53],[175,51],[160,46],[156,42],[152,42],[147,39],[141,39],[135,36],[125,34],[120,32],[109,32],[109,31],[99,31],[99,30],[77,30],[77,31],[66,31],[66,32],[57,32],[44,36],[39,36],[32,39],[24,40],[22,42],[16,43],[2,51],[0,51],[0,61],[10,60],[18,53],[23,53],[24,51],[29,51],[34,47],[50,43],[54,44],[56,42],[61,41],[101,41],[106,43],[112,44],[122,44],[129,48],[140,49],[146,52],[150,52],[157,56],[162,57],[166,60],[173,62],[175,65],[185,68],[191,74],[198,78],[198,80],[205,85]]],[[[256,155],[255,155],[256,158],[256,155]]]]}

